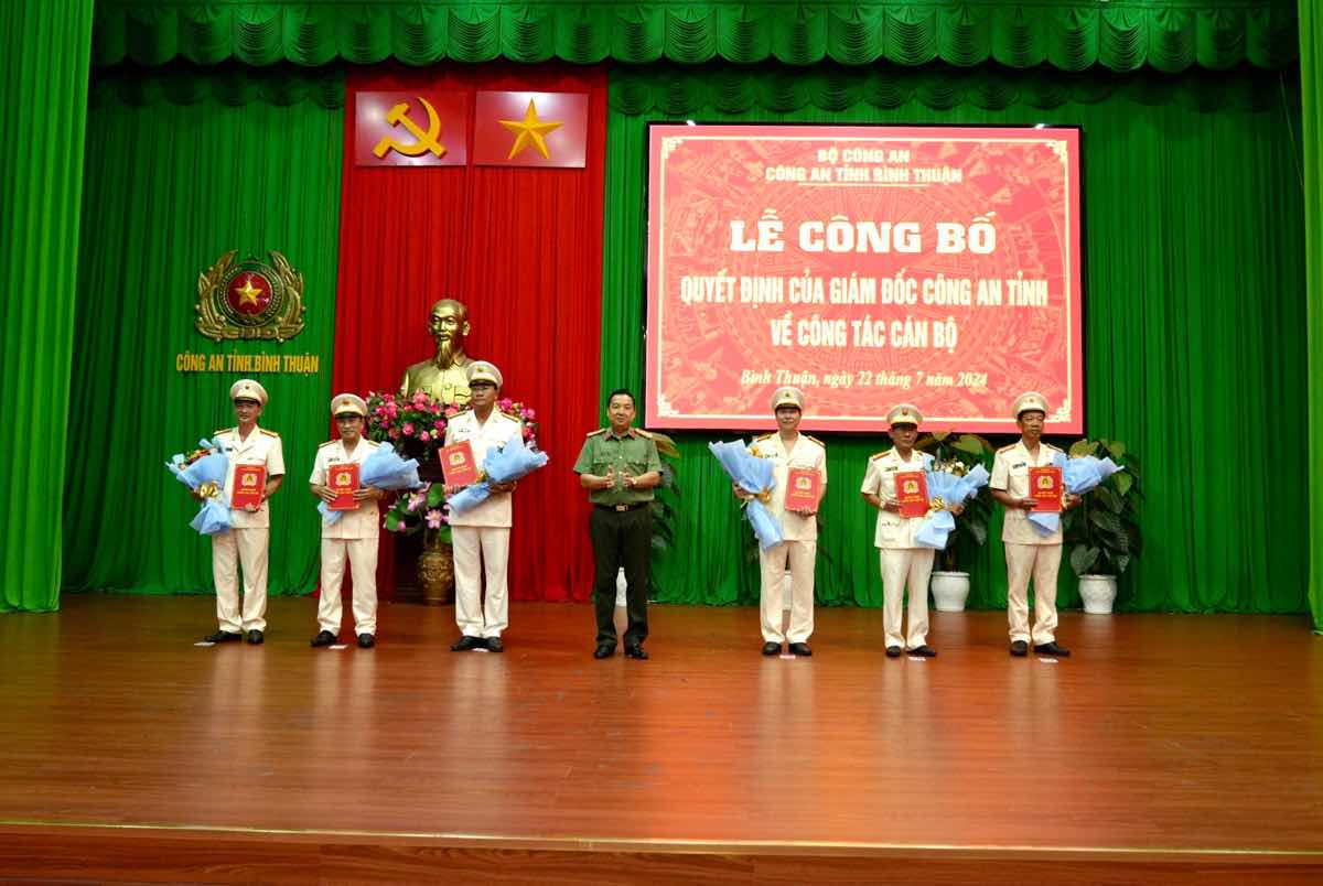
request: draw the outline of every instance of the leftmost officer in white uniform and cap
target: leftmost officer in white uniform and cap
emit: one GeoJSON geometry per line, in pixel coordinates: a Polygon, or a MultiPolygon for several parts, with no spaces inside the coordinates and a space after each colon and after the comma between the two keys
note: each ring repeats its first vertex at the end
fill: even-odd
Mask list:
{"type": "Polygon", "coordinates": [[[232,643],[247,633],[247,641],[262,643],[266,631],[266,577],[270,545],[270,499],[284,480],[284,452],[280,435],[257,426],[266,406],[266,389],[251,378],[230,386],[237,427],[213,434],[229,456],[225,475],[226,495],[234,489],[234,465],[258,464],[266,468],[261,505],[233,508],[232,529],[212,536],[212,578],[216,582],[216,618],[220,629],[205,637],[209,643],[232,643]],[[243,610],[239,612],[239,567],[243,569],[243,610]]]}

